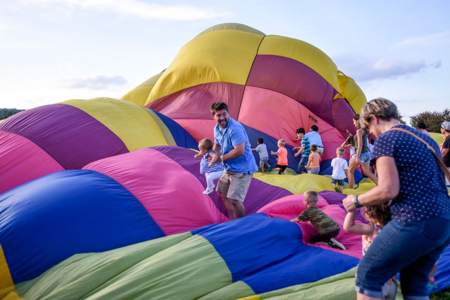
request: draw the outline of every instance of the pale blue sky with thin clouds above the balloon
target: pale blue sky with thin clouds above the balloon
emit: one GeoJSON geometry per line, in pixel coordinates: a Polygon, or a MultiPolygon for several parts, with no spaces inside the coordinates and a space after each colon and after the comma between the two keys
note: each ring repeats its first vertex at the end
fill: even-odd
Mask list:
{"type": "Polygon", "coordinates": [[[120,98],[216,24],[304,40],[406,116],[450,107],[450,1],[3,0],[0,108],[120,98]]]}

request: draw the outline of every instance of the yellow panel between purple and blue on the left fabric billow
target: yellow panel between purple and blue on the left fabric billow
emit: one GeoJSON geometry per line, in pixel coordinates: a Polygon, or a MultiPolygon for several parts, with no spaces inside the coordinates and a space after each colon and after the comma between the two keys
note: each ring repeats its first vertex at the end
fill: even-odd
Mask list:
{"type": "Polygon", "coordinates": [[[168,145],[157,122],[144,107],[135,103],[112,98],[67,100],[60,103],[77,107],[94,117],[116,134],[130,152],[168,145]]]}

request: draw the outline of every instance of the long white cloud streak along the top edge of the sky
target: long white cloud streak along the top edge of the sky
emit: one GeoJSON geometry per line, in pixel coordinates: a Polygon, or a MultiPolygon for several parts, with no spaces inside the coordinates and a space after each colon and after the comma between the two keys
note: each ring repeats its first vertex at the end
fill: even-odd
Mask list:
{"type": "Polygon", "coordinates": [[[186,4],[157,4],[139,0],[27,0],[27,3],[62,4],[68,8],[109,11],[119,15],[135,16],[143,19],[198,20],[230,17],[230,12],[186,4]]]}

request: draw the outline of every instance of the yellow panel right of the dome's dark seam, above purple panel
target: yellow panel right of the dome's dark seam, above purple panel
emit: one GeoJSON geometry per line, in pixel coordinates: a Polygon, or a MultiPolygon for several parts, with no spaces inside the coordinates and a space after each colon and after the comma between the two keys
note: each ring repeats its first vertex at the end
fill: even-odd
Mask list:
{"type": "Polygon", "coordinates": [[[302,40],[286,36],[266,36],[258,54],[279,55],[292,58],[313,69],[339,91],[338,67],[327,54],[302,40]]]}

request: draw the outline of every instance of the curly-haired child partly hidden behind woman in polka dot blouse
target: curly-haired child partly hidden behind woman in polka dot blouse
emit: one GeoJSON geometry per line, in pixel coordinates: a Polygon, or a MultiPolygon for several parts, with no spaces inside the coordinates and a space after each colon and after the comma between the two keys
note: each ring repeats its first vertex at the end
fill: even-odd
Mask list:
{"type": "MultiPolygon", "coordinates": [[[[362,251],[363,255],[365,255],[379,231],[391,219],[391,211],[387,203],[364,206],[361,208],[361,215],[370,222],[369,224],[355,224],[355,213],[355,211],[347,212],[344,220],[344,229],[350,233],[362,235],[362,251]]],[[[384,283],[382,292],[382,299],[395,299],[397,293],[397,275],[394,275],[384,283]]]]}

